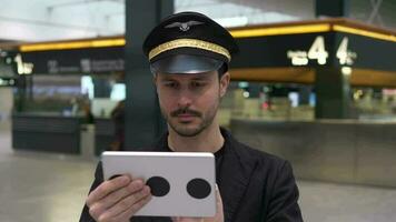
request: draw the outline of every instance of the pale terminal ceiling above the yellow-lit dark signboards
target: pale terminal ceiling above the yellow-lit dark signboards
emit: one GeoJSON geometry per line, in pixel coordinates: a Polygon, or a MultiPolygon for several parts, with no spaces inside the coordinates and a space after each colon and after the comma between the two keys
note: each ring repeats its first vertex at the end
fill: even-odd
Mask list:
{"type": "MultiPolygon", "coordinates": [[[[226,27],[315,18],[314,0],[175,0],[175,10],[199,11],[226,27]]],[[[395,0],[350,0],[352,18],[380,27],[396,29],[394,11],[395,0]]],[[[2,42],[120,36],[125,0],[3,0],[0,30],[2,42]]]]}

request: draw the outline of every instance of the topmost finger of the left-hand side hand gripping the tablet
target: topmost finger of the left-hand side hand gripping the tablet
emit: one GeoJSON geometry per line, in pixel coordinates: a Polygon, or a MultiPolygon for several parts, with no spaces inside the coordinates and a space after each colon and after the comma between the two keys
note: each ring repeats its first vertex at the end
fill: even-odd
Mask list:
{"type": "Polygon", "coordinates": [[[105,198],[109,193],[113,192],[115,190],[118,190],[120,188],[123,188],[128,185],[130,182],[130,178],[128,175],[121,175],[118,178],[115,178],[112,180],[108,180],[102,182],[97,189],[95,189],[87,199],[87,205],[91,206],[95,202],[98,200],[105,198]]]}

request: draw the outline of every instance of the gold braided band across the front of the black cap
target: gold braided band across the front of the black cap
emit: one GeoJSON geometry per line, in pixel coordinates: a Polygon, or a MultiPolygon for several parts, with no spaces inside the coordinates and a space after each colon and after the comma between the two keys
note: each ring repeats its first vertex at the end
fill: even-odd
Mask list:
{"type": "Polygon", "coordinates": [[[152,58],[157,57],[158,54],[160,54],[165,51],[178,49],[178,48],[182,48],[182,47],[204,49],[204,50],[216,52],[218,54],[222,54],[222,56],[227,57],[228,62],[231,60],[231,54],[229,53],[229,51],[226,48],[220,47],[215,43],[211,43],[211,42],[198,40],[198,39],[177,39],[177,40],[165,42],[165,43],[154,48],[149,52],[149,60],[151,60],[152,58]]]}

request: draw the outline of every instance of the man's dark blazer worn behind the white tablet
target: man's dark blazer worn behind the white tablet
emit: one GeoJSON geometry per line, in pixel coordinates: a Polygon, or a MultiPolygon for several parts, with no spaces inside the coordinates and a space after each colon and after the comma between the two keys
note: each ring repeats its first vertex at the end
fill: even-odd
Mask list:
{"type": "MultiPolygon", "coordinates": [[[[290,164],[275,155],[254,150],[221,129],[225,138],[221,180],[218,184],[225,222],[299,222],[298,188],[290,164]]],[[[151,151],[168,151],[162,137],[151,151]]],[[[91,191],[103,181],[98,164],[91,191]]],[[[85,205],[80,222],[91,222],[85,205]]],[[[131,222],[170,222],[169,218],[136,216],[131,222]]]]}

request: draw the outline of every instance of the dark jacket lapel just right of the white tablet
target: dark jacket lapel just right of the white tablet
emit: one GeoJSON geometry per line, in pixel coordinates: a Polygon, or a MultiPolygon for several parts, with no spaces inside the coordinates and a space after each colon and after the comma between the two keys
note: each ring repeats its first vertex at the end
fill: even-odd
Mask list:
{"type": "Polygon", "coordinates": [[[234,221],[234,215],[245,195],[257,162],[245,154],[241,144],[230,133],[225,130],[221,130],[221,132],[225,137],[226,150],[220,169],[219,190],[225,221],[234,221]]]}

